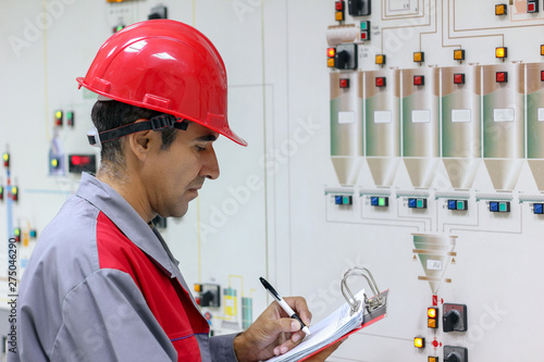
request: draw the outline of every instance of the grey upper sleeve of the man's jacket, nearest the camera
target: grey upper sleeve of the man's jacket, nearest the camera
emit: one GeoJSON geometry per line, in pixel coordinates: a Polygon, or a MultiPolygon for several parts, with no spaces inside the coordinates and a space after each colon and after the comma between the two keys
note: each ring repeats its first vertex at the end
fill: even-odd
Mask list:
{"type": "Polygon", "coordinates": [[[99,270],[72,289],[51,361],[176,361],[177,353],[132,277],[99,270]]]}

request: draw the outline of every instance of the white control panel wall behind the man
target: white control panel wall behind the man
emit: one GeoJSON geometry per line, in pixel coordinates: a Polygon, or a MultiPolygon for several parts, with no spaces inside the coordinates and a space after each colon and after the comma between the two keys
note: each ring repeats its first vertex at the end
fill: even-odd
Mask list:
{"type": "MultiPolygon", "coordinates": [[[[524,3],[515,1],[516,5],[520,2],[524,3]]],[[[76,126],[60,133],[65,151],[92,152],[85,134],[90,128],[94,98],[77,90],[75,77],[85,74],[120,16],[126,24],[145,20],[157,3],[0,0],[0,151],[9,148],[11,174],[21,189],[13,209],[17,225],[30,224],[39,233],[77,187],[77,177],[48,175],[53,112],[76,112],[76,126]],[[47,29],[40,29],[39,22],[48,18],[47,29]]],[[[449,217],[444,199],[431,198],[432,207],[424,214],[407,210],[404,197],[395,197],[399,190],[413,189],[404,165],[391,190],[390,210],[398,209],[398,213],[379,222],[361,217],[370,210],[362,196],[355,197],[359,203],[347,213],[334,209],[324,196],[325,185],[339,186],[330,159],[331,71],[325,64],[326,28],[336,23],[334,1],[163,3],[170,18],[196,26],[222,53],[230,83],[230,123],[249,142],[248,148],[225,139],[217,142],[221,177],[207,182],[187,215],[169,221],[163,233],[189,285],[232,286],[238,297],[254,298],[256,317],[270,302],[258,283],[259,276],[267,276],[283,294],[305,296],[320,320],[343,302],[342,274],[349,266],[364,265],[374,272],[380,287],[391,288],[388,316],[351,336],[331,361],[442,358],[441,347],[416,350],[412,338],[419,335],[428,344],[436,339],[468,347],[481,361],[541,354],[534,341],[542,339],[539,326],[544,322],[539,308],[544,297],[540,277],[544,247],[539,242],[543,221],[531,214],[530,202],[516,202],[520,195],[539,194],[527,163],[510,192],[515,202],[506,217],[491,215],[485,200],[478,199],[478,192],[495,192],[485,167],[478,170],[469,190],[470,216],[455,223],[478,222],[449,230],[458,236],[457,263],[446,272],[452,283],[438,291],[438,300],[468,305],[469,330],[430,330],[425,311],[433,294],[426,282],[418,279],[423,271],[413,261],[411,234],[441,234],[435,225],[449,217]],[[523,304],[529,315],[521,313],[523,304]],[[507,345],[511,340],[517,345],[507,345]]],[[[494,2],[489,1],[383,0],[372,5],[368,18],[380,32],[371,42],[360,45],[359,70],[364,72],[380,68],[373,63],[380,52],[387,54],[387,66],[418,68],[411,58],[418,50],[425,51],[426,62],[421,66],[453,66],[457,63],[452,45],[467,50],[463,65],[502,64],[494,57],[495,47],[502,45],[510,53],[507,62],[544,60],[539,53],[542,9],[528,15],[514,14],[509,7],[511,16],[497,17],[494,2]],[[409,4],[417,16],[383,16],[384,7],[399,3],[409,4]]],[[[359,21],[348,17],[347,23],[358,25],[359,21]]],[[[444,166],[437,168],[437,176],[447,178],[444,166]]],[[[4,184],[2,168],[0,185],[4,184]]],[[[367,163],[356,187],[378,190],[367,163]]],[[[449,190],[452,185],[435,182],[426,191],[449,190]]],[[[8,238],[5,205],[5,201],[0,203],[2,239],[8,238]]],[[[5,258],[0,252],[0,259],[5,258]]],[[[221,329],[223,310],[210,311],[221,329]]]]}

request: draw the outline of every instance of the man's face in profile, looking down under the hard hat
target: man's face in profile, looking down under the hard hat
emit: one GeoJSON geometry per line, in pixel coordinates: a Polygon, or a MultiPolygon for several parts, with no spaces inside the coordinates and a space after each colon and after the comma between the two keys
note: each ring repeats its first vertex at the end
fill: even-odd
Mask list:
{"type": "MultiPolygon", "coordinates": [[[[157,136],[161,137],[159,133],[157,136]]],[[[189,123],[168,150],[156,150],[146,160],[146,192],[151,209],[161,216],[185,215],[206,178],[219,177],[213,141],[219,134],[189,123]]]]}

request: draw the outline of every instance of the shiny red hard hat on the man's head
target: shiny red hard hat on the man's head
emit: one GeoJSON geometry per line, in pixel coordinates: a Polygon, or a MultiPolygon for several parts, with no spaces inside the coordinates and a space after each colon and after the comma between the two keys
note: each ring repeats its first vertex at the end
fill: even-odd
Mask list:
{"type": "Polygon", "coordinates": [[[228,127],[226,71],[211,41],[171,20],[125,27],[98,50],[79,87],[113,100],[196,122],[235,142],[228,127]]]}

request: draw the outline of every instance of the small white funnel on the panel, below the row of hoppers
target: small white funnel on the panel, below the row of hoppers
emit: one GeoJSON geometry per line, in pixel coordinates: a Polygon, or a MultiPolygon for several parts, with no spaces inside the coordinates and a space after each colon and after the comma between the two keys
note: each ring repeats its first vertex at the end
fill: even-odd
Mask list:
{"type": "Polygon", "coordinates": [[[429,282],[434,295],[437,294],[442,283],[452,283],[444,278],[446,269],[456,255],[454,252],[457,236],[412,234],[413,253],[416,253],[423,266],[424,276],[418,276],[420,280],[429,282]]]}

